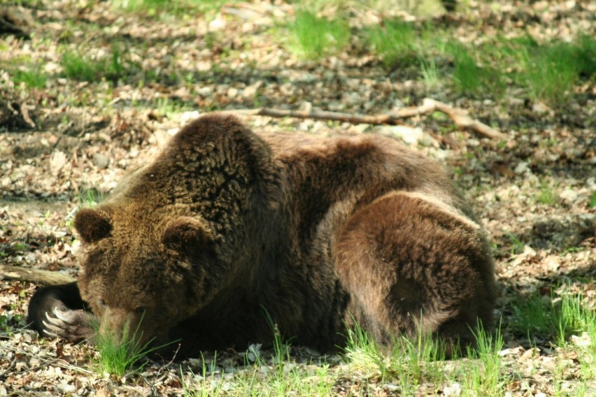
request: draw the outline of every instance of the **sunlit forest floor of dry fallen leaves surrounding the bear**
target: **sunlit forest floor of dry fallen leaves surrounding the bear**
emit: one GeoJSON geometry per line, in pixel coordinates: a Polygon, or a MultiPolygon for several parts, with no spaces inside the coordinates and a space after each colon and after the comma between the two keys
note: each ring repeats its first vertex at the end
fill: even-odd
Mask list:
{"type": "MultiPolygon", "coordinates": [[[[285,25],[297,6],[281,1],[220,3],[194,14],[141,13],[109,1],[17,3],[22,6],[11,12],[20,19],[13,22],[29,38],[0,36],[2,265],[76,277],[71,219],[80,201],[109,194],[127,170],[148,161],[199,114],[269,107],[378,115],[431,97],[467,110],[506,139],[456,128],[439,113],[402,126],[243,120],[255,131],[382,133],[441,161],[494,249],[504,345],[497,354],[498,384],[488,395],[596,396],[595,334],[577,329],[561,341],[556,324],[553,333],[553,324],[537,324],[542,317],[526,323],[519,318],[523,302],[549,312],[565,296],[580,296],[588,311],[596,308],[593,76],[577,80],[555,102],[506,83],[498,98],[490,90],[468,94],[448,77],[431,84],[411,66],[388,68],[357,34],[344,50],[304,60],[290,50],[285,25]],[[73,72],[66,54],[75,63],[89,57],[103,66],[83,64],[83,72],[73,72]],[[92,69],[87,77],[85,68],[92,69]]],[[[346,3],[353,31],[391,15],[346,3]]],[[[596,36],[596,6],[589,1],[499,4],[471,1],[464,11],[430,23],[472,46],[499,34],[531,34],[538,41],[596,36]]],[[[406,13],[393,14],[418,23],[406,13]]],[[[296,384],[271,380],[280,363],[267,349],[260,352],[264,361],[247,363],[246,352],[205,352],[181,363],[149,361],[118,377],[97,370],[93,347],[43,340],[27,328],[27,303],[37,287],[0,280],[0,396],[478,394],[467,389],[466,370],[457,370],[460,362],[469,368],[464,363],[471,359],[444,363],[440,382],[421,375],[404,389],[403,374],[381,376],[379,368],[356,365],[349,355],[320,356],[294,346],[281,370],[292,373],[296,384]],[[274,386],[260,389],[241,379],[274,386]]]]}

